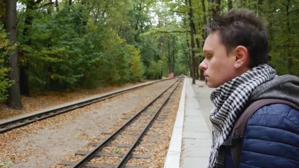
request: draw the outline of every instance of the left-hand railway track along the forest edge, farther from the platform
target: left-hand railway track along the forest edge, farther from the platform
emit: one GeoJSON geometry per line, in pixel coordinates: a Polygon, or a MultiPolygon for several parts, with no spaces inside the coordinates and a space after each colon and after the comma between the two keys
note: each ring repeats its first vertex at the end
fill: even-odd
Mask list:
{"type": "MultiPolygon", "coordinates": [[[[166,80],[169,80],[169,79],[166,79],[166,80]]],[[[155,81],[153,83],[130,87],[129,89],[123,89],[123,90],[120,90],[120,91],[117,91],[114,93],[109,93],[109,94],[105,94],[105,95],[101,95],[101,96],[92,97],[90,99],[87,99],[87,100],[79,102],[79,103],[77,103],[77,102],[72,103],[72,104],[69,104],[66,106],[54,108],[49,111],[43,111],[43,112],[39,112],[39,113],[35,113],[35,114],[25,115],[23,117],[15,117],[15,118],[7,120],[5,122],[2,122],[2,123],[0,122],[0,134],[5,133],[5,132],[15,129],[15,128],[19,128],[19,127],[28,125],[35,121],[53,117],[55,115],[59,115],[64,112],[70,112],[70,111],[78,109],[78,108],[83,108],[90,104],[97,103],[97,102],[100,102],[100,101],[103,101],[106,99],[110,99],[110,98],[118,96],[120,94],[124,94],[126,92],[136,90],[136,89],[139,89],[139,88],[142,88],[142,87],[145,87],[150,84],[157,83],[157,82],[161,82],[161,81],[165,81],[165,80],[159,80],[159,81],[155,81]]]]}

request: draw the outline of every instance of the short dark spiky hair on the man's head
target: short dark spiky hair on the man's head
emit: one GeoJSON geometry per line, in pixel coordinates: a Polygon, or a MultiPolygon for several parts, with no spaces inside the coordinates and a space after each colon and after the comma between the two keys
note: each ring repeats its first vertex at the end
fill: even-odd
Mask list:
{"type": "Polygon", "coordinates": [[[250,68],[268,63],[266,27],[266,20],[245,8],[233,8],[206,26],[209,33],[219,32],[227,52],[239,45],[246,47],[250,68]]]}

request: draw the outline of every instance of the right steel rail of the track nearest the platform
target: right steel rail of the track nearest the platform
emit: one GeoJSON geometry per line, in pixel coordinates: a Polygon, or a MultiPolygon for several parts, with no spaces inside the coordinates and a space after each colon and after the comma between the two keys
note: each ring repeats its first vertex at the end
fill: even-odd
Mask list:
{"type": "MultiPolygon", "coordinates": [[[[181,80],[180,80],[181,81],[181,80]]],[[[179,83],[180,84],[180,83],[179,83]]],[[[123,155],[123,157],[121,158],[119,164],[115,167],[115,168],[120,168],[122,167],[125,163],[127,163],[127,161],[129,160],[131,153],[133,152],[133,149],[135,148],[135,146],[137,145],[137,143],[139,142],[139,140],[141,140],[143,138],[143,136],[145,135],[145,133],[148,131],[149,127],[152,125],[153,121],[155,120],[155,118],[158,116],[158,114],[160,113],[160,111],[162,110],[162,108],[165,106],[165,104],[168,102],[169,98],[171,97],[171,95],[175,92],[175,90],[177,89],[177,87],[179,86],[179,84],[177,84],[177,86],[174,88],[174,90],[170,93],[170,95],[167,97],[167,99],[163,102],[162,106],[155,112],[155,114],[151,117],[149,123],[147,124],[147,126],[143,129],[143,131],[139,134],[138,138],[134,141],[133,145],[127,150],[127,152],[123,155]]]]}

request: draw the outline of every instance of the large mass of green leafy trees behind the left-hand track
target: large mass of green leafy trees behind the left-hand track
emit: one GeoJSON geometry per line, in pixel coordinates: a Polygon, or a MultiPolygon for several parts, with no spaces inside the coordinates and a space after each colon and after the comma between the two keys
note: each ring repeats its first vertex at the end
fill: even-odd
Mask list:
{"type": "Polygon", "coordinates": [[[86,10],[74,3],[50,16],[33,12],[29,36],[20,36],[20,64],[28,66],[31,91],[92,88],[143,78],[139,50],[121,39],[110,25],[84,25],[86,10]]]}

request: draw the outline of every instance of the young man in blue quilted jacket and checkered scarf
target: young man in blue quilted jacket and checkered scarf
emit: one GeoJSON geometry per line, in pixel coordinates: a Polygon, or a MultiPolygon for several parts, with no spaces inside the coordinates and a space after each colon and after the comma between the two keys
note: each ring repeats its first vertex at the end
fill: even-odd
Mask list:
{"type": "MultiPolygon", "coordinates": [[[[200,64],[210,99],[212,147],[209,168],[219,167],[219,148],[244,109],[259,99],[284,99],[299,106],[299,78],[277,76],[268,63],[266,22],[248,9],[232,9],[207,26],[200,64]]],[[[230,148],[224,167],[234,168],[230,148]]],[[[221,167],[221,165],[220,165],[221,167]]],[[[255,111],[242,142],[239,168],[299,168],[299,111],[271,104],[255,111]]]]}

